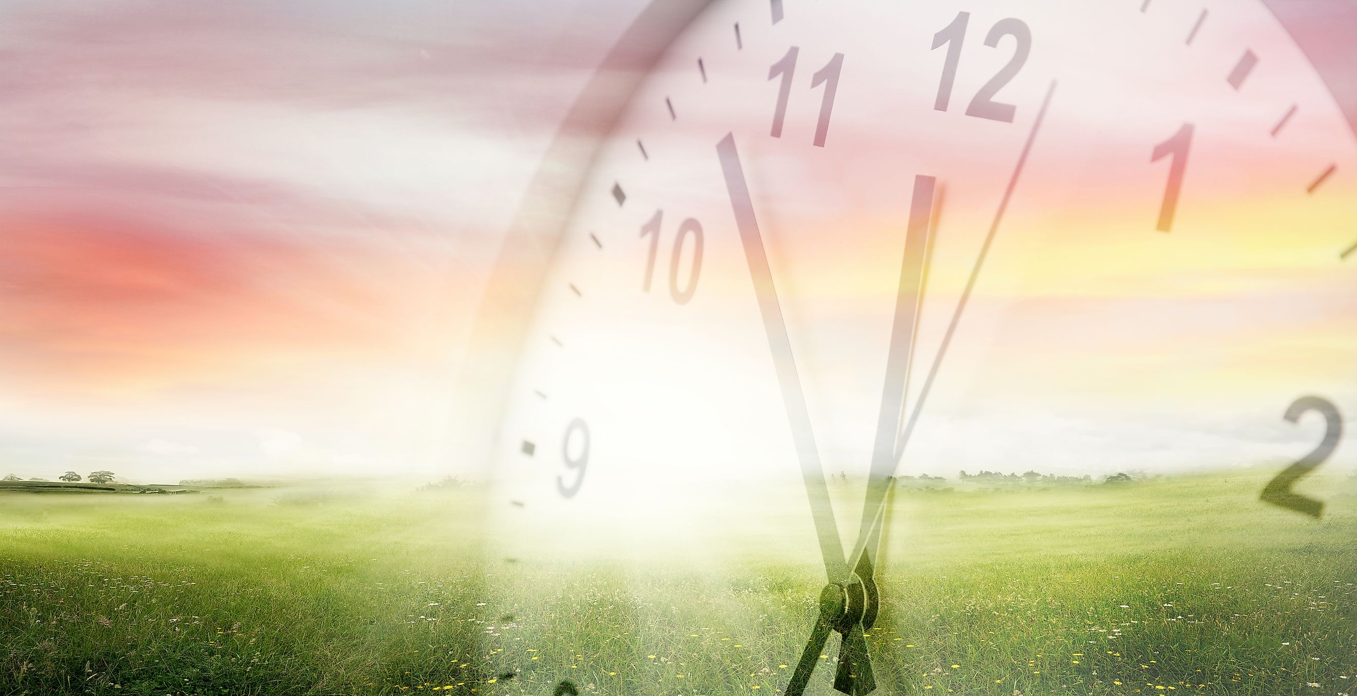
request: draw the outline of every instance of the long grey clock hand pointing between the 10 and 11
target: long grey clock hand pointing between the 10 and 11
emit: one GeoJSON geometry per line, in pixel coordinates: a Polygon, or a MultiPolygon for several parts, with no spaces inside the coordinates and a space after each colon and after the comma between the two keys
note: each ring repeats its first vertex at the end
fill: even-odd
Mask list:
{"type": "Polygon", "coordinates": [[[754,206],[749,199],[749,186],[745,182],[744,167],[740,164],[740,153],[735,152],[733,134],[727,133],[726,137],[721,138],[721,142],[716,144],[716,155],[721,157],[721,170],[726,176],[726,190],[730,194],[730,206],[735,213],[735,227],[740,229],[740,241],[745,248],[745,260],[749,263],[749,275],[753,278],[754,293],[759,296],[759,313],[763,316],[764,332],[768,335],[768,347],[772,349],[778,384],[782,388],[782,403],[791,425],[791,437],[797,444],[801,476],[806,484],[806,497],[810,499],[816,535],[820,537],[820,554],[825,559],[825,573],[833,582],[848,571],[844,564],[843,541],[839,537],[833,509],[829,506],[829,488],[825,486],[825,473],[820,467],[816,436],[810,429],[806,395],[801,389],[797,360],[791,354],[791,339],[787,336],[787,324],[782,317],[782,307],[778,304],[778,289],[773,288],[772,271],[768,269],[768,256],[759,233],[759,221],[754,220],[754,206]]]}

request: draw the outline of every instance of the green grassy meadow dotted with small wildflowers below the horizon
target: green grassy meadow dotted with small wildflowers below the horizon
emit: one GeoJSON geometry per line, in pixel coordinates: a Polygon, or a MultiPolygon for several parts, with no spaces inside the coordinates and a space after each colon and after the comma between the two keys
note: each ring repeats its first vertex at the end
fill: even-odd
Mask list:
{"type": "MultiPolygon", "coordinates": [[[[1357,491],[1267,475],[898,494],[878,693],[1357,693],[1357,491]]],[[[822,582],[506,566],[476,488],[221,498],[0,494],[0,695],[778,693],[822,582]]]]}

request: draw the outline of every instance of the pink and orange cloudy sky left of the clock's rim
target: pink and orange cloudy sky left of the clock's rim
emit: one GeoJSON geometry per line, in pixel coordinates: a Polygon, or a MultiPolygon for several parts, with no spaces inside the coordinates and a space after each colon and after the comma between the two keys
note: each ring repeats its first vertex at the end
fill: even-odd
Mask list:
{"type": "Polygon", "coordinates": [[[0,471],[449,471],[499,235],[635,4],[5,3],[0,471]]]}

